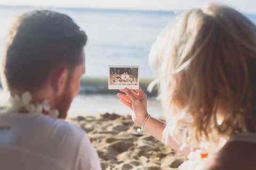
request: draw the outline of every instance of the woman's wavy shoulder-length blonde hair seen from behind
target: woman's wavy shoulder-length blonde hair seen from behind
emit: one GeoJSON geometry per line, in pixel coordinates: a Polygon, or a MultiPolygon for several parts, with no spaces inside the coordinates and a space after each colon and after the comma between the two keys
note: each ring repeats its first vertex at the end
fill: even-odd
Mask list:
{"type": "Polygon", "coordinates": [[[203,138],[256,131],[256,27],[243,14],[220,4],[188,11],[160,33],[149,63],[159,75],[165,139],[198,147],[203,138]]]}

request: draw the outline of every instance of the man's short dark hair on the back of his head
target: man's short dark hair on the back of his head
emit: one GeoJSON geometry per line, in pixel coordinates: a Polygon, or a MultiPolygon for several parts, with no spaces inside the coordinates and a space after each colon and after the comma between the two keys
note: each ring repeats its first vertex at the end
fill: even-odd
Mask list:
{"type": "Polygon", "coordinates": [[[36,90],[58,66],[73,72],[82,63],[87,36],[67,15],[54,11],[22,14],[6,37],[2,82],[8,89],[36,90]]]}

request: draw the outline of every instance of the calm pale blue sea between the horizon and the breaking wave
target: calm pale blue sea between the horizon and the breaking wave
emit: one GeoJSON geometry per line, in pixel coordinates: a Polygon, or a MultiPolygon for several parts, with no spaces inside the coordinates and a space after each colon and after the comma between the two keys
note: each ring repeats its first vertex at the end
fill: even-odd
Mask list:
{"type": "Polygon", "coordinates": [[[0,6],[0,51],[19,14],[43,9],[68,14],[86,32],[86,75],[91,77],[107,77],[108,65],[140,65],[142,77],[153,77],[147,62],[150,46],[174,16],[172,11],[0,6]]]}

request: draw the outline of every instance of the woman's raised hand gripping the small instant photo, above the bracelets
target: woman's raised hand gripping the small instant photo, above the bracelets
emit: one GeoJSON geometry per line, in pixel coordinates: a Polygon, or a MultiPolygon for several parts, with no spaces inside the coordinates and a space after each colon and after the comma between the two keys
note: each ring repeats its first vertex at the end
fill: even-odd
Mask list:
{"type": "Polygon", "coordinates": [[[120,90],[125,92],[126,95],[117,94],[120,97],[120,101],[126,106],[131,108],[132,120],[138,126],[142,126],[145,117],[148,115],[147,112],[147,95],[139,87],[139,90],[129,90],[125,88],[120,90]]]}

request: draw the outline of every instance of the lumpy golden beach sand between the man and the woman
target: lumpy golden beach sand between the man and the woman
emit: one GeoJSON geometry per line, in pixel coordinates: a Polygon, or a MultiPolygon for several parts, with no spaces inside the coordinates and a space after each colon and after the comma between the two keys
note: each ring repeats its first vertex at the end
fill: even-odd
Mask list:
{"type": "Polygon", "coordinates": [[[129,115],[78,116],[68,122],[87,132],[102,169],[177,169],[186,160],[148,133],[138,132],[129,115]]]}

